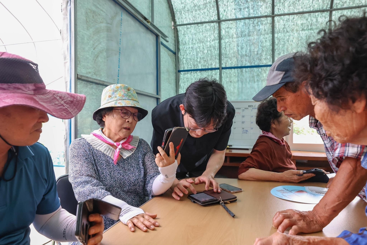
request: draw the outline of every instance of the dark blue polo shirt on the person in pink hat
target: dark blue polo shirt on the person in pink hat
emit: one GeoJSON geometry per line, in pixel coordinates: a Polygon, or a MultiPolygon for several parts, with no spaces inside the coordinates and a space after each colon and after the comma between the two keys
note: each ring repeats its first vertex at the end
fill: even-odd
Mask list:
{"type": "MultiPolygon", "coordinates": [[[[9,156],[10,157],[10,156],[9,156]]],[[[30,244],[34,216],[57,210],[55,173],[48,149],[40,143],[19,147],[18,167],[11,181],[0,180],[0,245],[30,244]]],[[[15,158],[5,178],[13,176],[15,158]]]]}

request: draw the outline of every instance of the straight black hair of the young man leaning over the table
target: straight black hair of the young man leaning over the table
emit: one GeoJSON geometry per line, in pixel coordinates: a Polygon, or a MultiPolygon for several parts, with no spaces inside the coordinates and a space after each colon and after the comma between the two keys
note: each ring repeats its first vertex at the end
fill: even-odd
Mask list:
{"type": "Polygon", "coordinates": [[[227,115],[226,91],[216,79],[200,78],[186,89],[183,106],[197,126],[213,122],[215,128],[220,127],[227,115]]]}

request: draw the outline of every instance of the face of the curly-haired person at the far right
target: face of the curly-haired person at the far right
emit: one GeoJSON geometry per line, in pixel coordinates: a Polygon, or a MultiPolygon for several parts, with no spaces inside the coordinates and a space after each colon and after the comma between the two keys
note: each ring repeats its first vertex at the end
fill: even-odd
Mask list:
{"type": "MultiPolygon", "coordinates": [[[[325,101],[317,100],[311,95],[312,104],[315,105],[315,116],[324,126],[327,136],[331,136],[339,143],[364,144],[363,134],[360,134],[367,126],[367,117],[364,109],[358,109],[359,105],[352,104],[350,109],[330,109],[325,101]]],[[[364,108],[364,106],[363,106],[364,108]]]]}

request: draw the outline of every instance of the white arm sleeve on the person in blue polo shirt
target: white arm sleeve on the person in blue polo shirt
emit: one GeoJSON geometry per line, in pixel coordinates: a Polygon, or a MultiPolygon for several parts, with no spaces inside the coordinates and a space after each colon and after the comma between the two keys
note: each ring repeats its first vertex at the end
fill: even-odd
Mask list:
{"type": "Polygon", "coordinates": [[[76,242],[76,217],[61,206],[47,215],[36,215],[33,226],[41,235],[58,242],[76,242]]]}

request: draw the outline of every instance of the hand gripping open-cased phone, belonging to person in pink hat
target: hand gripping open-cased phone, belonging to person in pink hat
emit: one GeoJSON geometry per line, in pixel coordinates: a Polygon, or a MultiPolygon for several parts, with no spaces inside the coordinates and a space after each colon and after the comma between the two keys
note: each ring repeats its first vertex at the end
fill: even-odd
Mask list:
{"type": "Polygon", "coordinates": [[[120,207],[99,199],[91,198],[79,202],[76,209],[76,238],[84,245],[98,244],[102,240],[104,229],[101,215],[119,220],[120,213],[120,207]],[[93,234],[90,232],[91,227],[97,227],[96,230],[92,229],[93,234]],[[99,234],[100,232],[102,233],[99,234]]]}

